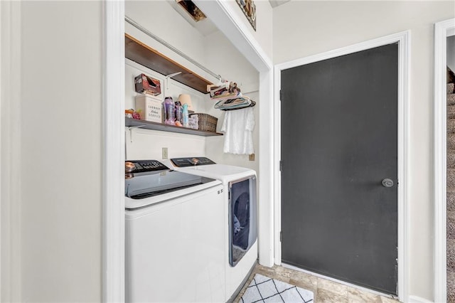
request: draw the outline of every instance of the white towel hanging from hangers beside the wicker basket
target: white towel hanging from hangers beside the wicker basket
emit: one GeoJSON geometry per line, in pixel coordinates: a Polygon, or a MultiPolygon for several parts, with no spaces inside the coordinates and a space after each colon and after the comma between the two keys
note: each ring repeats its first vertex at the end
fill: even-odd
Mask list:
{"type": "Polygon", "coordinates": [[[223,151],[230,154],[254,154],[252,133],[254,128],[253,107],[228,110],[225,114],[223,127],[221,127],[221,132],[225,133],[223,151]]]}

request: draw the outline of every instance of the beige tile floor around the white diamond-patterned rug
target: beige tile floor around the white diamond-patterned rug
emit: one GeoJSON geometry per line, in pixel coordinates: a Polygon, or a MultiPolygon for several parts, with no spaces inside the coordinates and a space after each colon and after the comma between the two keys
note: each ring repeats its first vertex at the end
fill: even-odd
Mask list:
{"type": "Polygon", "coordinates": [[[252,278],[256,273],[271,277],[276,280],[287,282],[291,285],[311,290],[314,293],[314,302],[331,302],[331,303],[362,303],[362,302],[377,302],[377,303],[397,303],[398,301],[390,297],[382,297],[378,294],[371,292],[364,292],[363,290],[349,287],[347,285],[332,282],[330,280],[322,279],[314,275],[291,270],[282,266],[274,265],[274,267],[264,267],[256,265],[250,278],[245,283],[240,293],[234,302],[239,302],[240,297],[250,285],[252,278]]]}

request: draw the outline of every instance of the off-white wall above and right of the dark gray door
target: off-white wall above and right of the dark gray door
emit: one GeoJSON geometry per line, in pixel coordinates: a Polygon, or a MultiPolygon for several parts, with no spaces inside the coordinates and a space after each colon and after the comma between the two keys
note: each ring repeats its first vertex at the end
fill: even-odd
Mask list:
{"type": "Polygon", "coordinates": [[[274,63],[411,30],[410,294],[433,298],[434,23],[453,1],[291,1],[274,9],[274,63]],[[290,21],[291,20],[291,21],[290,21]]]}

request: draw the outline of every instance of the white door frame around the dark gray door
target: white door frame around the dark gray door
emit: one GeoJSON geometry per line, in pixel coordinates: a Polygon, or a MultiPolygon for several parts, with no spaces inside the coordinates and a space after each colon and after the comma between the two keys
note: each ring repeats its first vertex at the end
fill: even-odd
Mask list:
{"type": "MultiPolygon", "coordinates": [[[[281,72],[288,68],[335,58],[341,55],[356,53],[361,50],[385,46],[390,43],[398,43],[398,298],[402,302],[409,299],[409,206],[407,201],[409,165],[409,117],[410,117],[410,31],[395,33],[370,41],[346,46],[325,53],[311,55],[305,58],[280,63],[274,67],[274,167],[279,167],[281,159],[281,106],[279,91],[281,89],[281,72]]],[[[281,233],[281,174],[279,171],[274,175],[274,255],[275,264],[281,265],[282,245],[281,233]]]]}

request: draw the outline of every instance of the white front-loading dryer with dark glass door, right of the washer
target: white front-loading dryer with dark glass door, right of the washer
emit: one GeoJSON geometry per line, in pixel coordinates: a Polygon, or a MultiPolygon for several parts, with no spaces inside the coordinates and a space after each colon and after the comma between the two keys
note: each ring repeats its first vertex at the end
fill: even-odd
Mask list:
{"type": "Polygon", "coordinates": [[[202,157],[174,158],[166,164],[178,171],[218,179],[223,183],[225,217],[226,300],[240,292],[257,263],[256,172],[240,166],[216,164],[202,157]]]}

